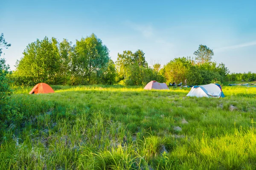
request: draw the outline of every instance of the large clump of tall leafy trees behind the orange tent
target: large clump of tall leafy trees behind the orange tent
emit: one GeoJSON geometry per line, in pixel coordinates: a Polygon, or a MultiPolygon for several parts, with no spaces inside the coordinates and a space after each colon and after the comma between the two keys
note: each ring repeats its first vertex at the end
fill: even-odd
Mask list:
{"type": "Polygon", "coordinates": [[[45,37],[27,45],[12,77],[18,85],[113,84],[116,70],[108,48],[95,34],[75,45],[45,37]]]}

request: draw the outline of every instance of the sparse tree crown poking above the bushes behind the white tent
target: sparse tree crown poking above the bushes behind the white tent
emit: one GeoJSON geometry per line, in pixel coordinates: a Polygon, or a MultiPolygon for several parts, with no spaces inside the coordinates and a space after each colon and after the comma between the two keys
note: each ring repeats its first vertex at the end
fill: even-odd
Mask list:
{"type": "Polygon", "coordinates": [[[198,50],[194,52],[195,60],[198,64],[204,64],[205,62],[210,62],[212,56],[214,56],[213,51],[206,45],[200,44],[198,50]]]}

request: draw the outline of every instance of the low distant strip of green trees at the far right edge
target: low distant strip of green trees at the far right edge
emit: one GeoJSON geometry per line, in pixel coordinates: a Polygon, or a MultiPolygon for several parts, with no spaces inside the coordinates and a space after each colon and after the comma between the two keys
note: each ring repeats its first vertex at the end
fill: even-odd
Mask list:
{"type": "Polygon", "coordinates": [[[229,81],[253,82],[256,81],[256,73],[231,73],[227,75],[229,81]]]}

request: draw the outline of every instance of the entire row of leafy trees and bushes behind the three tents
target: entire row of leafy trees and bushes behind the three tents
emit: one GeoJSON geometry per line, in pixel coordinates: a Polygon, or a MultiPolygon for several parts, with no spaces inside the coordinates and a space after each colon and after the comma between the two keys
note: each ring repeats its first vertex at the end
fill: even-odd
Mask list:
{"type": "Polygon", "coordinates": [[[159,63],[150,67],[142,50],[123,51],[113,62],[107,46],[95,34],[76,40],[74,45],[66,39],[58,42],[45,37],[27,45],[11,77],[16,85],[31,86],[39,82],[145,85],[151,80],[201,85],[227,78],[228,69],[211,61],[214,53],[206,45],[199,45],[194,55],[195,59],[175,58],[163,67],[159,63]]]}

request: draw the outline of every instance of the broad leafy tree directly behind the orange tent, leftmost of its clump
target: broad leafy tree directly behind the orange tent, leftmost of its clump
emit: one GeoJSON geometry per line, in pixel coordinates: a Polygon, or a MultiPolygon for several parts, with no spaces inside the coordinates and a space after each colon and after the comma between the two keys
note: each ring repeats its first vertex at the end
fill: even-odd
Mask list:
{"type": "Polygon", "coordinates": [[[58,54],[57,41],[47,37],[27,45],[23,57],[17,61],[15,75],[29,77],[33,84],[47,82],[57,84],[55,76],[59,72],[60,57],[58,54]]]}

